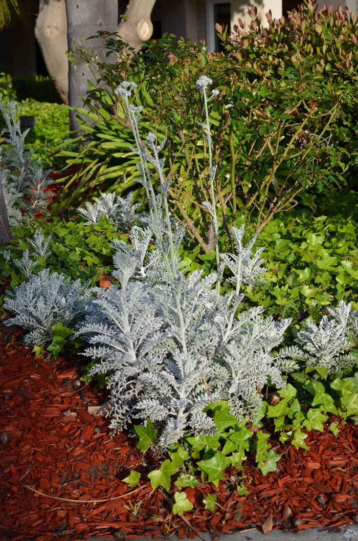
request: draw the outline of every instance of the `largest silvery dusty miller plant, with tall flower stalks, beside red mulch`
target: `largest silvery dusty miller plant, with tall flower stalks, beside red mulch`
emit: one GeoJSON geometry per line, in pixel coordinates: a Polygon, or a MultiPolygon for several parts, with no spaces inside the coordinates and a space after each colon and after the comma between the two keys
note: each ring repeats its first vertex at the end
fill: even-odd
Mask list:
{"type": "MultiPolygon", "coordinates": [[[[207,87],[211,80],[200,77],[207,112],[207,87]]],[[[262,308],[240,311],[242,283],[255,283],[262,275],[260,250],[252,253],[255,237],[243,246],[244,228],[232,228],[235,254],[220,254],[212,167],[209,116],[203,125],[208,141],[210,183],[213,201],[207,211],[213,217],[217,272],[206,278],[195,271],[186,276],[179,269],[178,248],[183,230],[173,228],[167,193],[170,178],[163,174],[164,158],[156,135],[142,141],[138,129],[141,108],[129,103],[135,83],[123,82],[116,89],[128,114],[135,138],[141,183],[147,193],[149,214],[136,215],[146,229],[136,228],[131,244],[118,242],[114,275],[120,288],[98,292],[79,334],[87,335],[91,347],[85,354],[95,362],[91,372],[109,372],[111,427],[122,430],[132,419],[150,418],[158,429],[158,445],[167,448],[184,433],[212,434],[213,420],[203,410],[211,401],[225,398],[236,415],[255,418],[261,403],[257,387],[270,378],[284,387],[282,371],[295,368],[297,348],[273,354],[290,320],[264,319],[262,308]],[[151,176],[160,181],[155,194],[151,176]],[[155,248],[149,249],[153,236],[155,248]],[[221,262],[220,262],[221,259],[221,262]],[[221,294],[224,267],[233,273],[235,289],[221,294]]],[[[211,97],[216,96],[211,91],[211,97]]]]}

